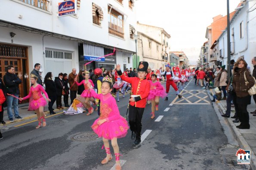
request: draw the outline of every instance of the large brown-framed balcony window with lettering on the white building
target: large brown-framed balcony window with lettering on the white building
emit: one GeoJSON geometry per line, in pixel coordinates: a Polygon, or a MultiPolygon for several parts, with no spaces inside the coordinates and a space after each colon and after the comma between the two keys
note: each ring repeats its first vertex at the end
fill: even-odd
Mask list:
{"type": "Polygon", "coordinates": [[[123,38],[123,15],[110,6],[108,13],[108,33],[123,38]]]}

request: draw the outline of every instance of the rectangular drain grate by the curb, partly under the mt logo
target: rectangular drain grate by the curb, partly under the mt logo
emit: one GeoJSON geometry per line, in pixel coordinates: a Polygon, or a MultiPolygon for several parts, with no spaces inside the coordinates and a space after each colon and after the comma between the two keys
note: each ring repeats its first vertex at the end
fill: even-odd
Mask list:
{"type": "Polygon", "coordinates": [[[235,155],[222,155],[225,166],[231,169],[248,170],[245,164],[237,164],[237,157],[235,155]]]}

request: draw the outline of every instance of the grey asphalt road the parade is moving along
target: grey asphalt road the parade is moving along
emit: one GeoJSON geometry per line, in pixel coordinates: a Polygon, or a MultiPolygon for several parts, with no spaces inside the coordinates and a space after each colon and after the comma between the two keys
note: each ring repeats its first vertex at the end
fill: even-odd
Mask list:
{"type": "MultiPolygon", "coordinates": [[[[182,99],[177,99],[172,87],[170,89],[169,100],[160,100],[156,118],[163,117],[159,122],[150,118],[151,105],[145,108],[142,133],[150,133],[141,144],[132,145],[130,130],[126,137],[118,140],[123,170],[228,170],[219,153],[220,148],[228,145],[228,139],[212,104],[207,104],[210,98],[204,95],[205,90],[194,86],[192,81],[183,95],[187,100],[182,102],[187,103],[182,104],[179,102],[182,99]],[[192,94],[204,100],[198,101],[200,98],[192,94]],[[197,104],[193,104],[195,102],[197,104]]],[[[123,116],[128,98],[126,95],[118,102],[123,116]]],[[[47,118],[48,125],[43,128],[35,129],[37,122],[31,122],[3,131],[0,169],[110,170],[115,161],[101,165],[105,158],[105,150],[101,149],[103,142],[90,128],[97,117],[96,112],[90,116],[60,114],[47,118]]],[[[112,148],[111,153],[114,155],[112,148]]]]}

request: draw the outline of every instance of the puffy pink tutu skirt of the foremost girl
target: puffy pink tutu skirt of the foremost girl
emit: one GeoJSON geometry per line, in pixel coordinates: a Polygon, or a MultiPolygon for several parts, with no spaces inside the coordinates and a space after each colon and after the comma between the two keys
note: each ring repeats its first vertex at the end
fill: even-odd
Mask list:
{"type": "Polygon", "coordinates": [[[122,116],[119,119],[111,122],[104,122],[101,125],[97,125],[100,117],[96,119],[92,125],[93,131],[99,136],[105,139],[111,140],[114,137],[125,137],[129,129],[128,122],[122,116]]]}

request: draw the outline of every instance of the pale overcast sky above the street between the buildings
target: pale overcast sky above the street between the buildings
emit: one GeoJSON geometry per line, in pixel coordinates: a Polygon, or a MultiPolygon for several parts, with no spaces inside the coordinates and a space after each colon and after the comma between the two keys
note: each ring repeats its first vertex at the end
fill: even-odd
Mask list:
{"type": "MultiPolygon", "coordinates": [[[[229,0],[233,12],[240,0],[229,0]]],[[[217,15],[227,15],[226,0],[136,0],[137,21],[162,27],[171,35],[170,51],[184,51],[196,64],[207,41],[206,28],[217,15]]]]}

